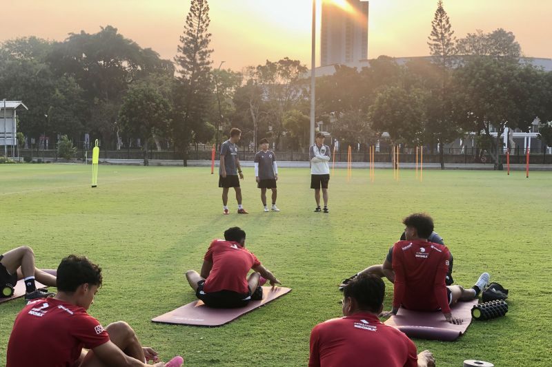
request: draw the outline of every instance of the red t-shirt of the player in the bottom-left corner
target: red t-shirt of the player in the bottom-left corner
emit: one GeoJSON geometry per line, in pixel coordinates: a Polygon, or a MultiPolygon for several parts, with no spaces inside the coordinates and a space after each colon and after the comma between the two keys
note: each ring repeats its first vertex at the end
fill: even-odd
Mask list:
{"type": "Polygon", "coordinates": [[[41,298],[29,302],[15,318],[6,367],[72,366],[82,348],[107,342],[107,331],[84,308],[41,298]]]}

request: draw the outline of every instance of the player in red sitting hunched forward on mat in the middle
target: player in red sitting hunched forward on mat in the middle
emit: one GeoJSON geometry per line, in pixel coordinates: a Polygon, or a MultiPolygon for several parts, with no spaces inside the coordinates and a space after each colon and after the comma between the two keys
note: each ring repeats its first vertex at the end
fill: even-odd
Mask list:
{"type": "Polygon", "coordinates": [[[201,274],[186,271],[186,279],[199,300],[214,308],[246,306],[262,300],[262,283],[281,284],[246,248],[246,233],[239,227],[224,231],[223,240],[213,240],[204,257],[201,274]],[[253,269],[249,277],[247,273],[253,269]]]}

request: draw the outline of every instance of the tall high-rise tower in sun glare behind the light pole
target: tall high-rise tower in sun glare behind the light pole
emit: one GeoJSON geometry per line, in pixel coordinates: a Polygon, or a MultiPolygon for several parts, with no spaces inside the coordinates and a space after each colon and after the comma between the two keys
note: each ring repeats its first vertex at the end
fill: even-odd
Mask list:
{"type": "Polygon", "coordinates": [[[368,1],[322,2],[320,65],[354,63],[368,58],[368,1]]]}

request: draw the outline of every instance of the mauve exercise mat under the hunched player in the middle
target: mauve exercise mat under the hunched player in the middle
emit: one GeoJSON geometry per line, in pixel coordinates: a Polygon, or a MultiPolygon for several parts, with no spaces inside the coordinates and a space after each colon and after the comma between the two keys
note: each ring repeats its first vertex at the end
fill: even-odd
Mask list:
{"type": "Polygon", "coordinates": [[[202,301],[197,300],[155,317],[151,321],[193,326],[222,326],[291,291],[290,288],[282,286],[275,288],[264,286],[262,289],[263,299],[261,301],[250,301],[245,307],[209,308],[202,301]]]}

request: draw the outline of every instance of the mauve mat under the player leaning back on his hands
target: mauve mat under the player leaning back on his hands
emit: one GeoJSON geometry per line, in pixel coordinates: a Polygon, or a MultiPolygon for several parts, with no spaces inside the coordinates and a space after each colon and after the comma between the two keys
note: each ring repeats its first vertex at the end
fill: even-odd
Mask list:
{"type": "Polygon", "coordinates": [[[460,335],[466,333],[466,329],[471,323],[471,308],[475,304],[477,304],[477,300],[457,302],[451,308],[453,316],[464,319],[462,325],[447,322],[441,311],[411,311],[402,307],[399,308],[397,315],[389,317],[384,324],[398,328],[408,337],[453,342],[460,335]]]}

